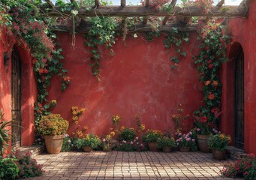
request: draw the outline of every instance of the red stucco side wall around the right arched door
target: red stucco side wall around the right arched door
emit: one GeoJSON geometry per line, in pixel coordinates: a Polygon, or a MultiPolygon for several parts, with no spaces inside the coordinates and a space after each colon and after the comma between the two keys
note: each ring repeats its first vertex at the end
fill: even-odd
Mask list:
{"type": "Polygon", "coordinates": [[[233,45],[228,56],[230,62],[223,66],[223,97],[221,128],[233,135],[233,53],[239,43],[244,52],[244,89],[245,89],[245,151],[256,154],[256,1],[251,1],[248,19],[233,19],[228,23],[233,45]]]}

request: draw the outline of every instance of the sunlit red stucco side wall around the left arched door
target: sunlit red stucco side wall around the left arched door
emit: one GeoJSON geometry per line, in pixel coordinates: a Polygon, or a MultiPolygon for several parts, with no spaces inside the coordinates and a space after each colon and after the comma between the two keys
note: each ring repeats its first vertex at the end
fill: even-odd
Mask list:
{"type": "MultiPolygon", "coordinates": [[[[5,115],[3,120],[11,120],[11,59],[9,65],[4,65],[4,52],[11,57],[11,50],[17,46],[14,37],[0,31],[0,109],[5,115]]],[[[22,46],[17,46],[22,62],[22,145],[32,145],[34,142],[34,102],[36,99],[36,84],[32,68],[32,56],[22,46]]],[[[11,128],[11,127],[10,127],[11,128]]],[[[11,145],[10,145],[11,149],[11,145]]]]}

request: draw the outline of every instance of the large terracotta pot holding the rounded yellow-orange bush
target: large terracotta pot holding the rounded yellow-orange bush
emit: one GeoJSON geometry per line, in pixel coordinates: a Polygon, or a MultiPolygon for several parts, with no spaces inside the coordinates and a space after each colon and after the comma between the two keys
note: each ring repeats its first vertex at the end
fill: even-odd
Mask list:
{"type": "Polygon", "coordinates": [[[62,150],[64,135],[44,136],[45,146],[49,154],[59,154],[62,150]]]}

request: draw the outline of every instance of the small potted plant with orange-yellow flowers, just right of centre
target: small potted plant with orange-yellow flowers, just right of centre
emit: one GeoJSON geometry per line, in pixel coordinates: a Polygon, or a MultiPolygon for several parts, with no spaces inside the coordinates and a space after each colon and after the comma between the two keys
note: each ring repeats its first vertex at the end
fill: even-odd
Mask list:
{"type": "Polygon", "coordinates": [[[158,147],[156,146],[156,142],[158,139],[161,139],[163,134],[160,130],[147,130],[143,135],[143,142],[147,142],[149,146],[149,151],[158,151],[158,147]]]}

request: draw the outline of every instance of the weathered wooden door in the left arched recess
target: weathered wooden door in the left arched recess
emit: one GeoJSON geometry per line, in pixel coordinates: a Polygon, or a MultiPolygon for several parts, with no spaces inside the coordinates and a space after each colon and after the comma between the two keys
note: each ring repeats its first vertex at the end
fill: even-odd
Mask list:
{"type": "Polygon", "coordinates": [[[11,55],[11,115],[12,148],[20,147],[21,142],[21,63],[17,49],[11,55]]]}

